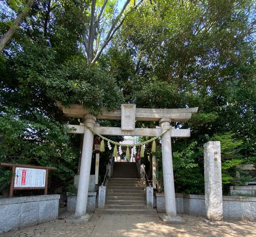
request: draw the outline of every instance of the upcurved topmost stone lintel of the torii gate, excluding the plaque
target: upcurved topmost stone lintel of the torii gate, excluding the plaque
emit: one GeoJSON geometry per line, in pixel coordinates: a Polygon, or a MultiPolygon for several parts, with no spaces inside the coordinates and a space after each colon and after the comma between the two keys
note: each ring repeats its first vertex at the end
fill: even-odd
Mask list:
{"type": "MultiPolygon", "coordinates": [[[[85,109],[83,105],[70,104],[70,107],[66,108],[62,105],[60,101],[57,101],[57,105],[67,117],[84,118],[86,114],[90,114],[90,112],[87,109],[85,109]]],[[[198,107],[182,109],[135,108],[135,120],[159,121],[162,118],[167,118],[170,119],[171,122],[185,122],[189,120],[191,118],[192,113],[196,113],[197,110],[198,107]]],[[[97,115],[97,118],[121,120],[121,114],[121,109],[108,111],[106,108],[102,108],[102,114],[97,115]]]]}

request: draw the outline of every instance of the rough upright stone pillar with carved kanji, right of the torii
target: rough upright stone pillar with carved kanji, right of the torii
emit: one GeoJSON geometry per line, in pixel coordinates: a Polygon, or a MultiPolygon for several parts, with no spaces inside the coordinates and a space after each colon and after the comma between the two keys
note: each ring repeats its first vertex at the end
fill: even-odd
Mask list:
{"type": "Polygon", "coordinates": [[[204,192],[206,217],[213,221],[223,220],[222,173],[220,142],[204,144],[204,192]]]}

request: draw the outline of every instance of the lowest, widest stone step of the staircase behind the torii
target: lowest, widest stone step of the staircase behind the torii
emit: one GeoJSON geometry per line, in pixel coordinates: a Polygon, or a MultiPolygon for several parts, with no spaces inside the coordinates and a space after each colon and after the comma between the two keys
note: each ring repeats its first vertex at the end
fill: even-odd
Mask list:
{"type": "Polygon", "coordinates": [[[121,215],[126,215],[126,214],[152,214],[156,215],[156,209],[98,209],[96,208],[95,210],[96,214],[121,214],[121,215]]]}

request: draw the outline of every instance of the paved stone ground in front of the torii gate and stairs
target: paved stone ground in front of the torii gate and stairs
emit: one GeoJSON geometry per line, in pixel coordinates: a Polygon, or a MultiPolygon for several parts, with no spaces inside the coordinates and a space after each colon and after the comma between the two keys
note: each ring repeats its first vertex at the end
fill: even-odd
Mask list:
{"type": "Polygon", "coordinates": [[[3,233],[0,237],[255,237],[256,223],[228,221],[210,226],[203,218],[180,214],[184,225],[164,225],[158,215],[94,214],[88,224],[65,223],[66,212],[58,220],[3,233]]]}

